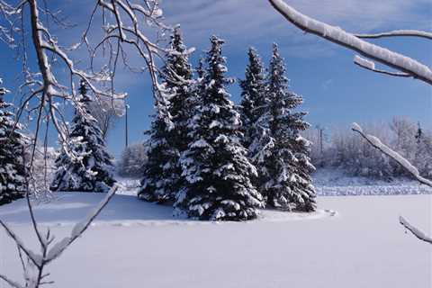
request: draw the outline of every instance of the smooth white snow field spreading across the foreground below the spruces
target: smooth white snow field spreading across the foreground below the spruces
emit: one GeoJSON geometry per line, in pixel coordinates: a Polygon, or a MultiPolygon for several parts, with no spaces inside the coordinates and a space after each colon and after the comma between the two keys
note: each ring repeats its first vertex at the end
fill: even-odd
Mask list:
{"type": "MultiPolygon", "coordinates": [[[[55,193],[36,206],[36,217],[61,238],[102,198],[55,193]]],[[[430,288],[432,246],[405,233],[398,216],[429,233],[431,201],[320,197],[311,214],[263,211],[258,220],[215,223],[176,219],[170,207],[115,195],[46,272],[52,287],[62,288],[430,288]]],[[[24,201],[0,207],[0,219],[37,247],[24,201]]],[[[20,267],[13,241],[0,230],[0,273],[19,280],[20,267]]]]}

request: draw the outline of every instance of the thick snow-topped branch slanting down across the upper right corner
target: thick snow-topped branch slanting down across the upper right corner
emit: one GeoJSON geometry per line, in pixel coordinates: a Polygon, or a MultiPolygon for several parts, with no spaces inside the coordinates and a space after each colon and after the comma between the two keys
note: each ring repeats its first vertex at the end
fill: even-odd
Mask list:
{"type": "Polygon", "coordinates": [[[419,61],[369,43],[339,27],[315,20],[293,9],[284,0],[269,0],[269,2],[280,14],[284,15],[286,20],[302,29],[302,31],[310,32],[347,49],[352,49],[365,58],[379,62],[387,67],[392,67],[428,85],[432,85],[432,70],[430,67],[419,63],[419,61]]]}

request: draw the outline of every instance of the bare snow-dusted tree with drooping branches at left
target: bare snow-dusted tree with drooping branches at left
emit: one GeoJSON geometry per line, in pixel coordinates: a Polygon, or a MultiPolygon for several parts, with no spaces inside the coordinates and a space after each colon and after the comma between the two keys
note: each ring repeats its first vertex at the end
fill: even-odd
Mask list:
{"type": "MultiPolygon", "coordinates": [[[[32,252],[14,230],[0,220],[0,226],[18,247],[24,270],[24,284],[15,282],[6,275],[0,275],[0,279],[14,288],[39,288],[42,284],[52,283],[47,280],[49,273],[44,271],[46,266],[84,233],[110,201],[118,186],[112,187],[94,211],[91,211],[85,220],[76,224],[69,237],[54,244],[54,237],[49,230],[46,233],[40,230],[31,202],[31,195],[36,192],[36,185],[31,184],[34,182],[31,179],[38,140],[42,139],[46,152],[49,125],[52,124],[58,130],[61,145],[69,153],[69,157],[80,160],[80,155],[75,155],[68,148],[69,135],[64,116],[64,103],[71,103],[78,111],[82,110],[80,103],[76,101],[76,83],[82,81],[97,99],[112,103],[114,108],[115,103],[126,95],[115,90],[114,78],[118,64],[122,62],[125,67],[136,71],[129,65],[126,51],[130,50],[127,50],[126,46],[134,49],[139,58],[144,60],[146,68],[140,68],[139,72],[148,72],[156,103],[163,101],[163,91],[157,84],[156,61],[157,58],[163,61],[172,51],[159,46],[158,40],[160,35],[171,28],[162,22],[158,0],[96,0],[82,38],[77,40],[75,45],[66,47],[61,45],[53,33],[55,29],[51,29],[50,25],[55,24],[56,28],[69,27],[58,11],[50,10],[48,4],[41,0],[23,0],[15,3],[0,0],[0,40],[17,52],[23,67],[23,84],[19,87],[21,104],[18,107],[16,122],[22,120],[24,113],[28,114],[29,121],[35,119],[29,157],[31,176],[27,179],[26,202],[31,215],[31,226],[38,238],[41,252],[32,252]],[[93,29],[102,31],[102,37],[95,43],[87,37],[93,29]],[[157,34],[154,40],[147,36],[151,29],[157,34]],[[72,57],[73,51],[80,47],[88,51],[87,59],[72,57]],[[32,58],[29,54],[36,56],[34,63],[31,63],[32,58]],[[103,54],[107,60],[96,67],[95,60],[99,59],[99,54],[103,54]],[[85,65],[87,67],[81,67],[85,65]],[[24,261],[24,257],[27,261],[24,261]]],[[[182,81],[180,78],[176,80],[182,81]]]]}

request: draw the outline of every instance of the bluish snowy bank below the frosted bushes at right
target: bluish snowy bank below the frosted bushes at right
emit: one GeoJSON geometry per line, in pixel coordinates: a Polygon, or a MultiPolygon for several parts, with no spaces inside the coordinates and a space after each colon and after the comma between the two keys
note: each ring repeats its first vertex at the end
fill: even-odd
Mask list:
{"type": "Polygon", "coordinates": [[[432,188],[417,180],[395,178],[391,182],[361,176],[348,176],[343,170],[320,168],[313,184],[321,196],[430,194],[432,188]]]}

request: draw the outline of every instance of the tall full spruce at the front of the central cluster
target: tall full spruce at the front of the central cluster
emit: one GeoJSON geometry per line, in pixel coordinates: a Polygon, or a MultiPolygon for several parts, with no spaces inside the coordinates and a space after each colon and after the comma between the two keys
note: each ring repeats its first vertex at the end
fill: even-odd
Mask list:
{"type": "Polygon", "coordinates": [[[193,141],[181,158],[186,184],[175,208],[199,220],[249,220],[263,199],[251,184],[255,166],[240,143],[240,117],[229,100],[224,41],[211,37],[201,106],[193,115],[193,141]]]}

